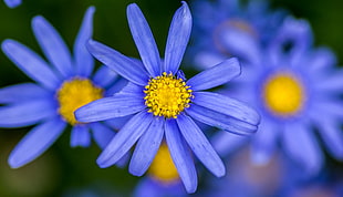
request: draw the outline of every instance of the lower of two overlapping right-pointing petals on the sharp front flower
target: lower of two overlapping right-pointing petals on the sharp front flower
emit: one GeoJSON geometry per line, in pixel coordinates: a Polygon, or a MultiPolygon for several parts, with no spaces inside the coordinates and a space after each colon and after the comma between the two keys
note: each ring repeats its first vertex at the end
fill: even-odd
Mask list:
{"type": "Polygon", "coordinates": [[[205,124],[216,126],[220,129],[238,135],[250,135],[256,133],[258,129],[256,125],[251,125],[229,115],[221,114],[196,104],[193,104],[189,108],[186,108],[186,113],[205,124]]]}

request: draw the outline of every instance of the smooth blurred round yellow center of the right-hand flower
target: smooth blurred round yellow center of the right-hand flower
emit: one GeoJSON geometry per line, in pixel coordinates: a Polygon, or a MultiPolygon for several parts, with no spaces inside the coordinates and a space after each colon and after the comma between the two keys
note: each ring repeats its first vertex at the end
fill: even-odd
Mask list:
{"type": "Polygon", "coordinates": [[[266,81],[263,98],[268,110],[273,114],[291,116],[302,108],[304,90],[292,74],[279,73],[266,81]]]}

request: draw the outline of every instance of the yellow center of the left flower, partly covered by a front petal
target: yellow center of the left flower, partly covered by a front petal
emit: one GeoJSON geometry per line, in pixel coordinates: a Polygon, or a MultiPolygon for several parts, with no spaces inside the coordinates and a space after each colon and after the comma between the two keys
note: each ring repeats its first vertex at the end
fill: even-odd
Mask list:
{"type": "Polygon", "coordinates": [[[92,101],[103,97],[103,89],[95,86],[90,80],[73,77],[65,81],[56,92],[60,104],[59,113],[71,125],[80,122],[75,120],[74,111],[92,101]]]}

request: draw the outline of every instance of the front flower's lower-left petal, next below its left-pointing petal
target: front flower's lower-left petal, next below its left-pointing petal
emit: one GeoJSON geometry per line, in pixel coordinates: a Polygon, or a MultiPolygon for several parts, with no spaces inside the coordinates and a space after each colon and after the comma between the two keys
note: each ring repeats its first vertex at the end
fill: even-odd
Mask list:
{"type": "Polygon", "coordinates": [[[133,116],[98,156],[96,159],[97,165],[104,168],[118,162],[146,132],[152,121],[153,115],[146,112],[133,116]]]}

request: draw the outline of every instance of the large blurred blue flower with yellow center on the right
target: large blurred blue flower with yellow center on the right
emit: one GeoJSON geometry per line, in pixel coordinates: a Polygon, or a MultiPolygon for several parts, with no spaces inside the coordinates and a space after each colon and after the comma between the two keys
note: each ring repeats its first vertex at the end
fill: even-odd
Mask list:
{"type": "Polygon", "coordinates": [[[339,95],[343,73],[334,66],[335,58],[329,49],[312,48],[309,23],[288,18],[257,56],[260,60],[243,66],[237,89],[227,91],[254,104],[261,114],[260,132],[252,138],[253,159],[268,162],[280,143],[306,175],[313,175],[323,164],[314,131],[328,151],[342,159],[343,102],[339,95]]]}

